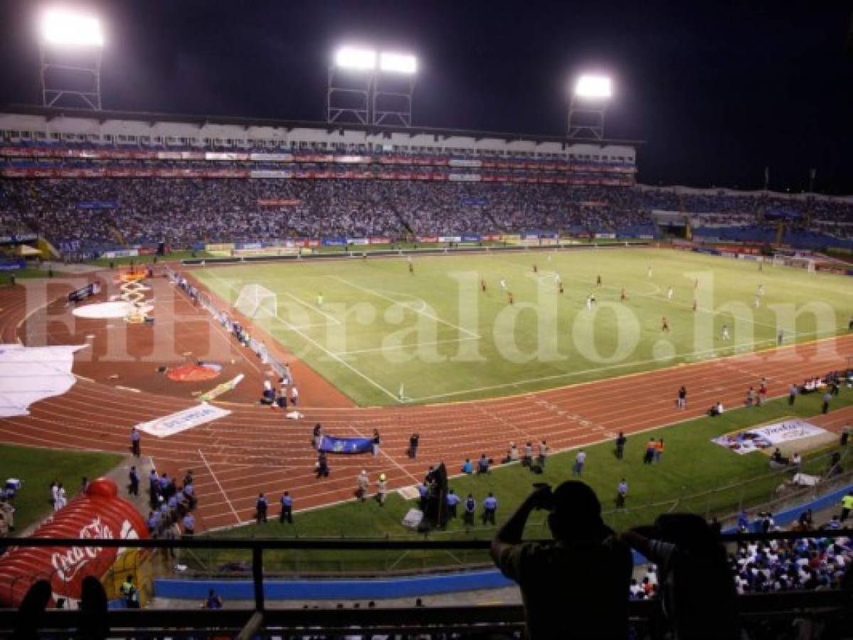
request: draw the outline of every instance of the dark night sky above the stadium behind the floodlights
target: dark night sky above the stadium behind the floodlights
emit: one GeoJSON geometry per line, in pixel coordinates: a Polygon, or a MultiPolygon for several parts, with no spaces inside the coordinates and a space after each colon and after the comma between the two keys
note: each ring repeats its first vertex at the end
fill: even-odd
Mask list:
{"type": "MultiPolygon", "coordinates": [[[[0,0],[0,104],[37,103],[37,0],[0,0]]],[[[55,3],[51,3],[55,4],[55,3]]],[[[641,182],[853,193],[853,3],[114,0],[103,106],[322,120],[339,43],[413,51],[415,126],[562,135],[610,72],[641,182]]]]}

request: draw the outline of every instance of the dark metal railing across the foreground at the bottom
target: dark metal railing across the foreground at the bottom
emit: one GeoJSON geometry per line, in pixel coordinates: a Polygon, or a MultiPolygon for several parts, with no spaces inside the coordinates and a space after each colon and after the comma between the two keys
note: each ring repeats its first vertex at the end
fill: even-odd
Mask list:
{"type": "MultiPolygon", "coordinates": [[[[853,529],[835,531],[769,532],[750,534],[724,534],[723,542],[767,539],[836,538],[853,536],[853,529]]],[[[13,547],[90,547],[92,539],[5,539],[13,547]]],[[[488,633],[514,637],[524,626],[524,612],[518,605],[454,606],[414,608],[268,608],[264,599],[264,551],[273,550],[479,550],[489,548],[488,540],[325,540],[325,539],[98,539],[101,547],[127,547],[140,549],[179,548],[203,550],[209,548],[251,551],[252,555],[252,609],[129,609],[110,610],[97,614],[97,623],[104,629],[96,637],[276,637],[311,636],[335,637],[340,635],[385,634],[439,634],[461,633],[477,637],[488,633]]],[[[33,580],[38,576],[33,576],[33,580]]],[[[627,594],[626,594],[627,597],[627,594]]],[[[713,607],[713,603],[709,603],[713,607]]],[[[738,610],[743,624],[760,620],[794,618],[835,621],[849,628],[853,618],[853,592],[792,591],[785,593],[752,594],[738,598],[738,610]]],[[[11,609],[0,609],[0,636],[18,631],[19,637],[46,637],[68,634],[89,625],[80,611],[49,610],[32,620],[11,609]],[[28,625],[28,626],[27,626],[28,625]],[[26,627],[26,628],[25,628],[26,627]],[[21,634],[21,629],[24,633],[21,634]],[[29,631],[30,635],[26,634],[29,631]]],[[[630,623],[641,628],[642,636],[663,637],[665,621],[658,601],[631,601],[630,623]]],[[[31,616],[32,617],[32,616],[31,616]]],[[[787,623],[786,623],[787,624],[787,623]]],[[[803,636],[801,636],[803,637],[803,636]]]]}

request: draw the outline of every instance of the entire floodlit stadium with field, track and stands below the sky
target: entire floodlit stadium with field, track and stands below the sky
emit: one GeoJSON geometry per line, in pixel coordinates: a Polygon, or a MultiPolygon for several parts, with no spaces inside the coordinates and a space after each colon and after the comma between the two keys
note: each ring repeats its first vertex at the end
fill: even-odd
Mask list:
{"type": "Polygon", "coordinates": [[[595,69],[531,135],[415,124],[401,49],[304,120],[104,109],[90,14],[39,48],[0,633],[846,637],[853,195],[643,183],[595,69]]]}

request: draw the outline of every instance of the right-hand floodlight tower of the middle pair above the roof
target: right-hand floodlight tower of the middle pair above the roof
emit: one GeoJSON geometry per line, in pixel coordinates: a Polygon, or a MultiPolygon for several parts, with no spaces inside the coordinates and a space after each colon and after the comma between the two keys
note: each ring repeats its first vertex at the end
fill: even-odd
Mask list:
{"type": "Polygon", "coordinates": [[[373,124],[412,126],[412,95],[418,61],[414,55],[381,53],[374,81],[373,124]]]}

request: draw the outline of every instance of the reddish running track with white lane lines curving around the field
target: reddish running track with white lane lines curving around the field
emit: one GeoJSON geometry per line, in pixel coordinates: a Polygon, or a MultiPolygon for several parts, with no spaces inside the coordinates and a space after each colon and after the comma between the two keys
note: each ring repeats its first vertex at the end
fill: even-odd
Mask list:
{"type": "MultiPolygon", "coordinates": [[[[24,315],[18,298],[13,290],[0,292],[4,342],[14,342],[18,335],[24,315]]],[[[269,408],[223,402],[219,404],[232,411],[228,417],[168,439],[143,436],[142,452],[171,475],[194,470],[200,529],[227,527],[252,519],[259,492],[276,499],[288,490],[297,510],[303,510],[351,499],[362,468],[371,477],[385,472],[391,488],[405,487],[420,481],[429,463],[443,460],[452,472],[464,458],[479,458],[480,453],[502,457],[509,441],[546,439],[556,452],[610,440],[620,430],[634,434],[696,418],[717,400],[739,406],[746,389],[762,377],[768,379],[771,397],[784,395],[792,381],[846,366],[853,335],[832,341],[835,349],[820,349],[826,342],[809,343],[498,400],[365,409],[300,406],[305,418],[298,421],[269,408]],[[677,411],[675,393],[682,384],[689,390],[689,406],[677,411]],[[332,475],[316,480],[310,446],[316,423],[335,435],[380,430],[380,456],[335,457],[332,475]],[[406,449],[415,431],[421,434],[421,447],[412,461],[406,449]]],[[[126,453],[131,425],[193,405],[189,398],[78,378],[66,395],[32,406],[32,415],[0,419],[0,440],[126,453]]],[[[853,410],[833,412],[818,422],[836,428],[851,415],[853,410]]]]}

